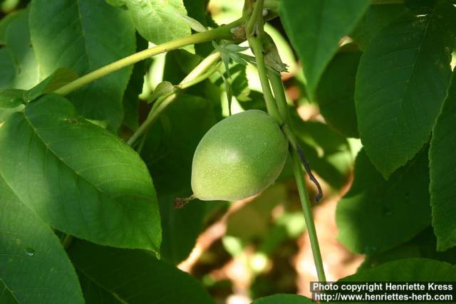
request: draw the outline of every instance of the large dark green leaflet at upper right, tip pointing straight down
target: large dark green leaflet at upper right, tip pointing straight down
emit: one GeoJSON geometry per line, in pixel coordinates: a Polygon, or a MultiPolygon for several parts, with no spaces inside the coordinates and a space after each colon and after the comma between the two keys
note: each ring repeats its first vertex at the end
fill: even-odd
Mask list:
{"type": "Polygon", "coordinates": [[[450,80],[456,9],[404,14],[383,28],[361,56],[356,77],[358,130],[366,153],[387,179],[429,139],[450,80]]]}

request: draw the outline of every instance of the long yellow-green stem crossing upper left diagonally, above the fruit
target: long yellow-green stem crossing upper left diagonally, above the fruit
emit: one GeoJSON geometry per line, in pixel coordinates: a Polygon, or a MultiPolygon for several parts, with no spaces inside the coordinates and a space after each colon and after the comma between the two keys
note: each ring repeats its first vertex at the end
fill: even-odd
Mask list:
{"type": "Polygon", "coordinates": [[[220,26],[219,28],[214,28],[210,31],[204,31],[202,33],[195,33],[194,35],[186,36],[183,38],[175,39],[173,41],[162,43],[158,46],[153,48],[148,48],[147,50],[140,51],[128,57],[122,58],[118,61],[110,63],[108,65],[103,66],[103,68],[99,68],[98,70],[94,70],[93,72],[88,73],[87,75],[78,78],[67,85],[63,85],[63,87],[56,90],[54,93],[60,95],[67,95],[73,90],[81,88],[81,86],[86,85],[93,80],[97,80],[98,78],[102,78],[105,75],[115,72],[116,70],[120,70],[121,68],[125,68],[128,65],[133,63],[137,63],[138,61],[142,61],[144,59],[150,58],[160,53],[165,53],[167,51],[174,50],[176,48],[182,48],[183,46],[188,46],[190,44],[195,43],[202,43],[207,41],[212,41],[215,39],[231,39],[233,34],[231,32],[232,28],[239,26],[242,24],[242,19],[229,23],[225,26],[220,26]]]}

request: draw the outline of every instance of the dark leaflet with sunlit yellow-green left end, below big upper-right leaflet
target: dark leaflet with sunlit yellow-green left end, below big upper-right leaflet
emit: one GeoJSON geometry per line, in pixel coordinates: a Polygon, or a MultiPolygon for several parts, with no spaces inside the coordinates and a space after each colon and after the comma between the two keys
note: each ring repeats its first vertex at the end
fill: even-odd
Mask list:
{"type": "Polygon", "coordinates": [[[430,224],[427,150],[385,181],[361,150],[350,191],[338,202],[338,239],[356,253],[380,253],[430,224]]]}

